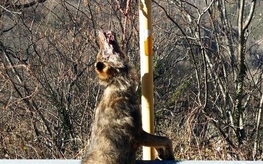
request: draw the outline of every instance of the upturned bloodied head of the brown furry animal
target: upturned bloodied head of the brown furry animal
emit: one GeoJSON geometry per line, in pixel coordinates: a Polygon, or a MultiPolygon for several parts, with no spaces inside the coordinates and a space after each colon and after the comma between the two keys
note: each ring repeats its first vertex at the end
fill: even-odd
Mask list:
{"type": "Polygon", "coordinates": [[[100,51],[97,55],[95,70],[101,85],[107,86],[121,78],[137,81],[137,73],[128,63],[128,57],[119,47],[114,33],[111,31],[98,33],[100,51]]]}

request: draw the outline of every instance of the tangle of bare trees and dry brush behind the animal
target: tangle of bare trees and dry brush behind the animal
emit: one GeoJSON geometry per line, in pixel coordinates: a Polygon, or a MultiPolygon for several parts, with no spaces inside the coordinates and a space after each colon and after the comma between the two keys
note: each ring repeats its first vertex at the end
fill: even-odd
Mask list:
{"type": "MultiPolygon", "coordinates": [[[[0,158],[83,157],[103,90],[96,30],[117,33],[139,74],[138,10],[138,0],[0,1],[0,158]]],[[[152,10],[156,134],[180,160],[262,160],[263,2],[152,10]]]]}

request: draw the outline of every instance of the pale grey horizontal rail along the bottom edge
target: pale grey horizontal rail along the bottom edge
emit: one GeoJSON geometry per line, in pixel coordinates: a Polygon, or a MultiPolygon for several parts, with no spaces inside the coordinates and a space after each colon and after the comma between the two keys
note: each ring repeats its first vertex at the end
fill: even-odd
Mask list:
{"type": "MultiPolygon", "coordinates": [[[[80,159],[0,159],[0,164],[80,164],[80,159]]],[[[263,161],[234,160],[137,160],[136,164],[263,164],[263,161]]]]}

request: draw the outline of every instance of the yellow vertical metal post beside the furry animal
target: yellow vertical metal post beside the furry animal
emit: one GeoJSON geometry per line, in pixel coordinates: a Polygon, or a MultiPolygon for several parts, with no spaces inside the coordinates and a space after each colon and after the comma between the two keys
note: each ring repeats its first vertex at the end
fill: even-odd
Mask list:
{"type": "MultiPolygon", "coordinates": [[[[139,1],[140,56],[142,83],[142,127],[154,134],[153,28],[152,1],[139,1]]],[[[143,160],[155,158],[154,149],[143,147],[143,160]]]]}

